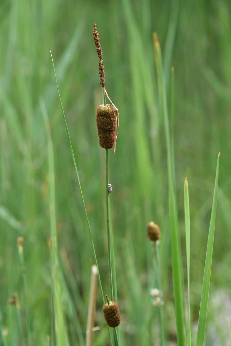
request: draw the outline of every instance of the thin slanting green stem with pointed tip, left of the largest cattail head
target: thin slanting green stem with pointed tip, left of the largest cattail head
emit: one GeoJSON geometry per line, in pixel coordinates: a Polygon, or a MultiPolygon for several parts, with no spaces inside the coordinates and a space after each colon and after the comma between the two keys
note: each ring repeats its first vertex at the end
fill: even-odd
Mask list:
{"type": "MultiPolygon", "coordinates": [[[[50,52],[50,54],[51,54],[51,52],[50,52]]],[[[51,54],[51,57],[52,57],[52,54],[51,54]]],[[[52,57],[52,64],[53,64],[53,69],[54,69],[54,73],[55,73],[55,66],[54,66],[54,62],[53,62],[53,57],[52,57]]],[[[74,163],[74,166],[75,166],[75,173],[76,173],[77,180],[78,180],[78,186],[80,188],[80,194],[81,194],[81,198],[82,198],[82,202],[83,202],[84,213],[85,213],[85,217],[86,217],[86,221],[87,221],[87,228],[88,228],[89,236],[90,236],[90,240],[91,240],[93,257],[94,257],[94,261],[95,261],[95,264],[96,264],[97,269],[98,269],[98,280],[99,280],[101,298],[102,298],[103,304],[105,304],[104,295],[103,295],[103,289],[102,289],[102,284],[101,284],[101,279],[100,279],[100,273],[99,273],[99,267],[98,267],[98,262],[97,262],[97,259],[96,259],[95,248],[94,248],[94,243],[93,243],[92,234],[91,234],[91,228],[90,228],[89,220],[88,220],[88,217],[87,217],[86,207],[85,207],[85,203],[84,203],[84,199],[83,199],[83,193],[82,193],[81,184],[80,184],[80,178],[78,176],[78,170],[77,170],[77,166],[76,166],[76,162],[75,162],[74,152],[73,152],[73,149],[72,149],[71,138],[70,138],[69,131],[68,131],[68,128],[67,128],[66,118],[65,118],[64,110],[63,110],[63,105],[62,105],[61,97],[60,97],[59,90],[58,90],[58,83],[57,83],[57,79],[56,79],[56,74],[55,74],[55,82],[56,82],[56,87],[57,87],[57,91],[58,91],[58,98],[59,98],[60,106],[61,106],[62,113],[63,113],[63,120],[64,120],[64,124],[65,124],[65,127],[66,127],[66,133],[67,133],[67,137],[68,137],[68,142],[69,142],[70,149],[71,149],[72,160],[73,160],[73,163],[74,163]]],[[[105,94],[105,92],[104,92],[104,94],[105,94]]]]}

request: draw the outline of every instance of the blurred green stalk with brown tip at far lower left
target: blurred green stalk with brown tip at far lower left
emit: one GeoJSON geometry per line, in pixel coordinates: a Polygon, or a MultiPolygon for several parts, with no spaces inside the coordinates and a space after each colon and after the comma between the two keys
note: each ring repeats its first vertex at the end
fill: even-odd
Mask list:
{"type": "MultiPolygon", "coordinates": [[[[22,237],[19,237],[22,239],[22,237]]],[[[18,238],[18,239],[19,239],[18,238]]],[[[23,255],[23,247],[20,244],[20,241],[17,241],[18,244],[18,253],[21,264],[21,273],[22,273],[22,285],[23,285],[23,297],[24,297],[24,307],[25,307],[25,319],[26,319],[26,329],[27,329],[27,338],[28,345],[32,345],[31,329],[30,329],[30,314],[29,314],[29,304],[28,304],[28,290],[27,290],[27,276],[26,276],[26,265],[23,255]]]]}

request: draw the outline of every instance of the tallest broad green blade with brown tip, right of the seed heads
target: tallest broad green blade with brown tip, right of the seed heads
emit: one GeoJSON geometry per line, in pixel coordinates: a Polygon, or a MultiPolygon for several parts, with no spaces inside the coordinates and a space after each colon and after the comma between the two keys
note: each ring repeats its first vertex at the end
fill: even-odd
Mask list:
{"type": "Polygon", "coordinates": [[[171,231],[171,248],[172,248],[172,272],[173,272],[173,291],[176,313],[176,329],[178,346],[185,345],[184,335],[184,312],[183,312],[183,292],[182,292],[182,270],[181,270],[181,250],[178,235],[178,223],[176,212],[176,195],[174,188],[174,176],[172,167],[172,154],[170,145],[169,122],[167,97],[164,80],[163,63],[157,34],[154,38],[154,55],[156,63],[157,84],[159,90],[160,107],[163,112],[164,129],[167,146],[167,166],[168,166],[168,189],[169,189],[169,206],[170,206],[170,231],[171,231]]]}

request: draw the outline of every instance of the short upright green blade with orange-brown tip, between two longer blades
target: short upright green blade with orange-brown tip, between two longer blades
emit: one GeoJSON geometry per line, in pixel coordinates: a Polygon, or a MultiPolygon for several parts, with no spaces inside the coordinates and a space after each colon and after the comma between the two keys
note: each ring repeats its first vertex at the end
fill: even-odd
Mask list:
{"type": "Polygon", "coordinates": [[[184,215],[185,215],[185,236],[186,236],[186,256],[187,256],[187,278],[188,278],[188,336],[187,346],[191,346],[191,324],[190,324],[190,210],[188,180],[184,181],[184,215]]]}

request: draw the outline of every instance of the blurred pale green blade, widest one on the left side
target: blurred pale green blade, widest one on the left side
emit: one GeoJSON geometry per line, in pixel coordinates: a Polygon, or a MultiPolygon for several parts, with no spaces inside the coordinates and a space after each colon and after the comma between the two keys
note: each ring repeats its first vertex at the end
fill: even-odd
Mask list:
{"type": "Polygon", "coordinates": [[[50,175],[50,255],[51,255],[51,275],[52,275],[52,290],[54,300],[54,321],[55,321],[55,341],[57,346],[69,345],[68,335],[66,330],[65,318],[63,313],[62,302],[62,287],[59,278],[59,260],[57,253],[57,233],[56,233],[56,218],[55,218],[55,174],[54,174],[54,154],[53,144],[50,133],[48,115],[43,99],[39,100],[41,111],[43,114],[47,144],[48,144],[48,161],[50,175]]]}

